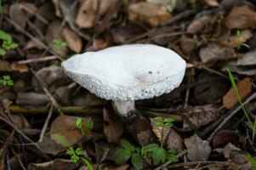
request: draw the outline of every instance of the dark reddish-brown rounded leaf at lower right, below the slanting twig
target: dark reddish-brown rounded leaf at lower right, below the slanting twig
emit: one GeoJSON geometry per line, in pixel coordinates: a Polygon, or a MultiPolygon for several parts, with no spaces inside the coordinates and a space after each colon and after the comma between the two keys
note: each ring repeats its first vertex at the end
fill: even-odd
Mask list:
{"type": "Polygon", "coordinates": [[[238,134],[231,130],[220,130],[213,136],[213,149],[224,147],[226,144],[239,140],[238,134]]]}

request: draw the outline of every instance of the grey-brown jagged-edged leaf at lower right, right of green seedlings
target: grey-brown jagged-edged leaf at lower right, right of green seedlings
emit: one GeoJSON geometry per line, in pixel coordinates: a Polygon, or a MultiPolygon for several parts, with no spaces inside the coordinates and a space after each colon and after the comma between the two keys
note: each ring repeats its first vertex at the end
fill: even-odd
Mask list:
{"type": "Polygon", "coordinates": [[[200,139],[196,134],[185,139],[185,147],[190,161],[207,161],[212,150],[209,142],[200,139]]]}

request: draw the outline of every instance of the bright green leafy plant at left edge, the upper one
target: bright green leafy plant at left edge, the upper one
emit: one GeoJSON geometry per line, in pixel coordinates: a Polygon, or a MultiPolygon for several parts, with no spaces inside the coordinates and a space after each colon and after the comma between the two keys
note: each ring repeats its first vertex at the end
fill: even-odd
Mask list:
{"type": "Polygon", "coordinates": [[[9,49],[18,48],[19,44],[13,42],[13,38],[9,35],[9,33],[0,30],[0,40],[2,40],[2,46],[0,47],[0,55],[6,54],[6,51],[9,49]]]}

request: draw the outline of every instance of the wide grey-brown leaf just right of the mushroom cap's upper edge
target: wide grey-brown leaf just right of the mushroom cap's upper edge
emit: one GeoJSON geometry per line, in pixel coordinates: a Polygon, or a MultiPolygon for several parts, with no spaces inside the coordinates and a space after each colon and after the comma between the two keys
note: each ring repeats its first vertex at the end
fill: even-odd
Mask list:
{"type": "Polygon", "coordinates": [[[237,55],[234,49],[227,48],[219,43],[209,42],[207,46],[202,47],[199,52],[202,63],[213,61],[236,59],[237,55]]]}

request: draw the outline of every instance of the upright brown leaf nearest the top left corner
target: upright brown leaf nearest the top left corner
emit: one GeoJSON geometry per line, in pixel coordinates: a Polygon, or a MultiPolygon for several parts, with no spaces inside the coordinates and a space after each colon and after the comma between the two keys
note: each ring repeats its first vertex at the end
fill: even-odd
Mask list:
{"type": "Polygon", "coordinates": [[[27,16],[23,10],[23,5],[20,3],[13,3],[9,8],[9,16],[21,28],[25,29],[27,16]]]}

